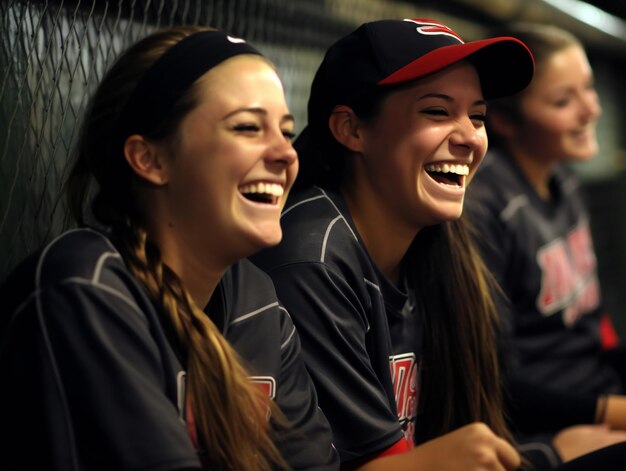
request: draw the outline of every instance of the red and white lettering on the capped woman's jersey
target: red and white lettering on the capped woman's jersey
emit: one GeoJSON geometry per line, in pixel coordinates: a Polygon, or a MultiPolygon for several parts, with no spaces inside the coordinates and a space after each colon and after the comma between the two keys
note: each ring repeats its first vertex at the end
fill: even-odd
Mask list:
{"type": "Polygon", "coordinates": [[[409,447],[413,448],[419,370],[415,354],[392,355],[389,357],[389,366],[398,406],[398,421],[404,430],[404,438],[409,443],[409,447]]]}

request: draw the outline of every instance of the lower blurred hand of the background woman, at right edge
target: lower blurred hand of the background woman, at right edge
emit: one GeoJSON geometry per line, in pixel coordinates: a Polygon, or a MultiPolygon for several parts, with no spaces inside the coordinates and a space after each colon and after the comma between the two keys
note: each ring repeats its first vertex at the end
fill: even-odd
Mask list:
{"type": "Polygon", "coordinates": [[[606,424],[574,425],[561,430],[552,440],[563,461],[569,461],[599,448],[626,441],[626,432],[611,430],[606,424]]]}

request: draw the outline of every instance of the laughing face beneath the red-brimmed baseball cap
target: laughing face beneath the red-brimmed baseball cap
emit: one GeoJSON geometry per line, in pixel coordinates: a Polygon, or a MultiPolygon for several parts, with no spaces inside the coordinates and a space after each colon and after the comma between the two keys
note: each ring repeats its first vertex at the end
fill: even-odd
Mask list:
{"type": "Polygon", "coordinates": [[[487,150],[486,112],[468,62],[393,92],[363,128],[351,193],[411,232],[460,217],[467,184],[487,150]]]}

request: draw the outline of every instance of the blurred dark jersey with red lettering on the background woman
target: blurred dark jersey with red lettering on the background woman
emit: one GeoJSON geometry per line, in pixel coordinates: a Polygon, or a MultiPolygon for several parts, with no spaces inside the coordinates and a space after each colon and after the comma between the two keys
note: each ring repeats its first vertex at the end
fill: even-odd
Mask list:
{"type": "Polygon", "coordinates": [[[485,262],[508,297],[499,297],[498,307],[509,371],[523,383],[515,389],[535,408],[552,401],[538,423],[560,428],[569,423],[549,414],[568,396],[579,407],[563,420],[589,423],[595,396],[621,385],[602,357],[596,258],[574,173],[558,167],[550,191],[552,198],[543,200],[512,159],[490,152],[469,187],[467,208],[485,262]],[[531,398],[537,388],[544,399],[531,398]],[[553,393],[563,393],[562,400],[553,393]]]}

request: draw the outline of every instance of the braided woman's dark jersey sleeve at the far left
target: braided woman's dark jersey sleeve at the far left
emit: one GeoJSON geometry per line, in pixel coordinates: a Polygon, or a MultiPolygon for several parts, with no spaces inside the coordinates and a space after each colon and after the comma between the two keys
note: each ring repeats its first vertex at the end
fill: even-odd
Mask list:
{"type": "Polygon", "coordinates": [[[127,294],[63,282],[35,292],[13,316],[0,353],[2,376],[12,378],[2,388],[3,407],[12,401],[3,428],[12,424],[23,442],[51,440],[42,445],[50,456],[39,458],[46,469],[200,468],[165,394],[168,360],[154,326],[127,294]]]}

